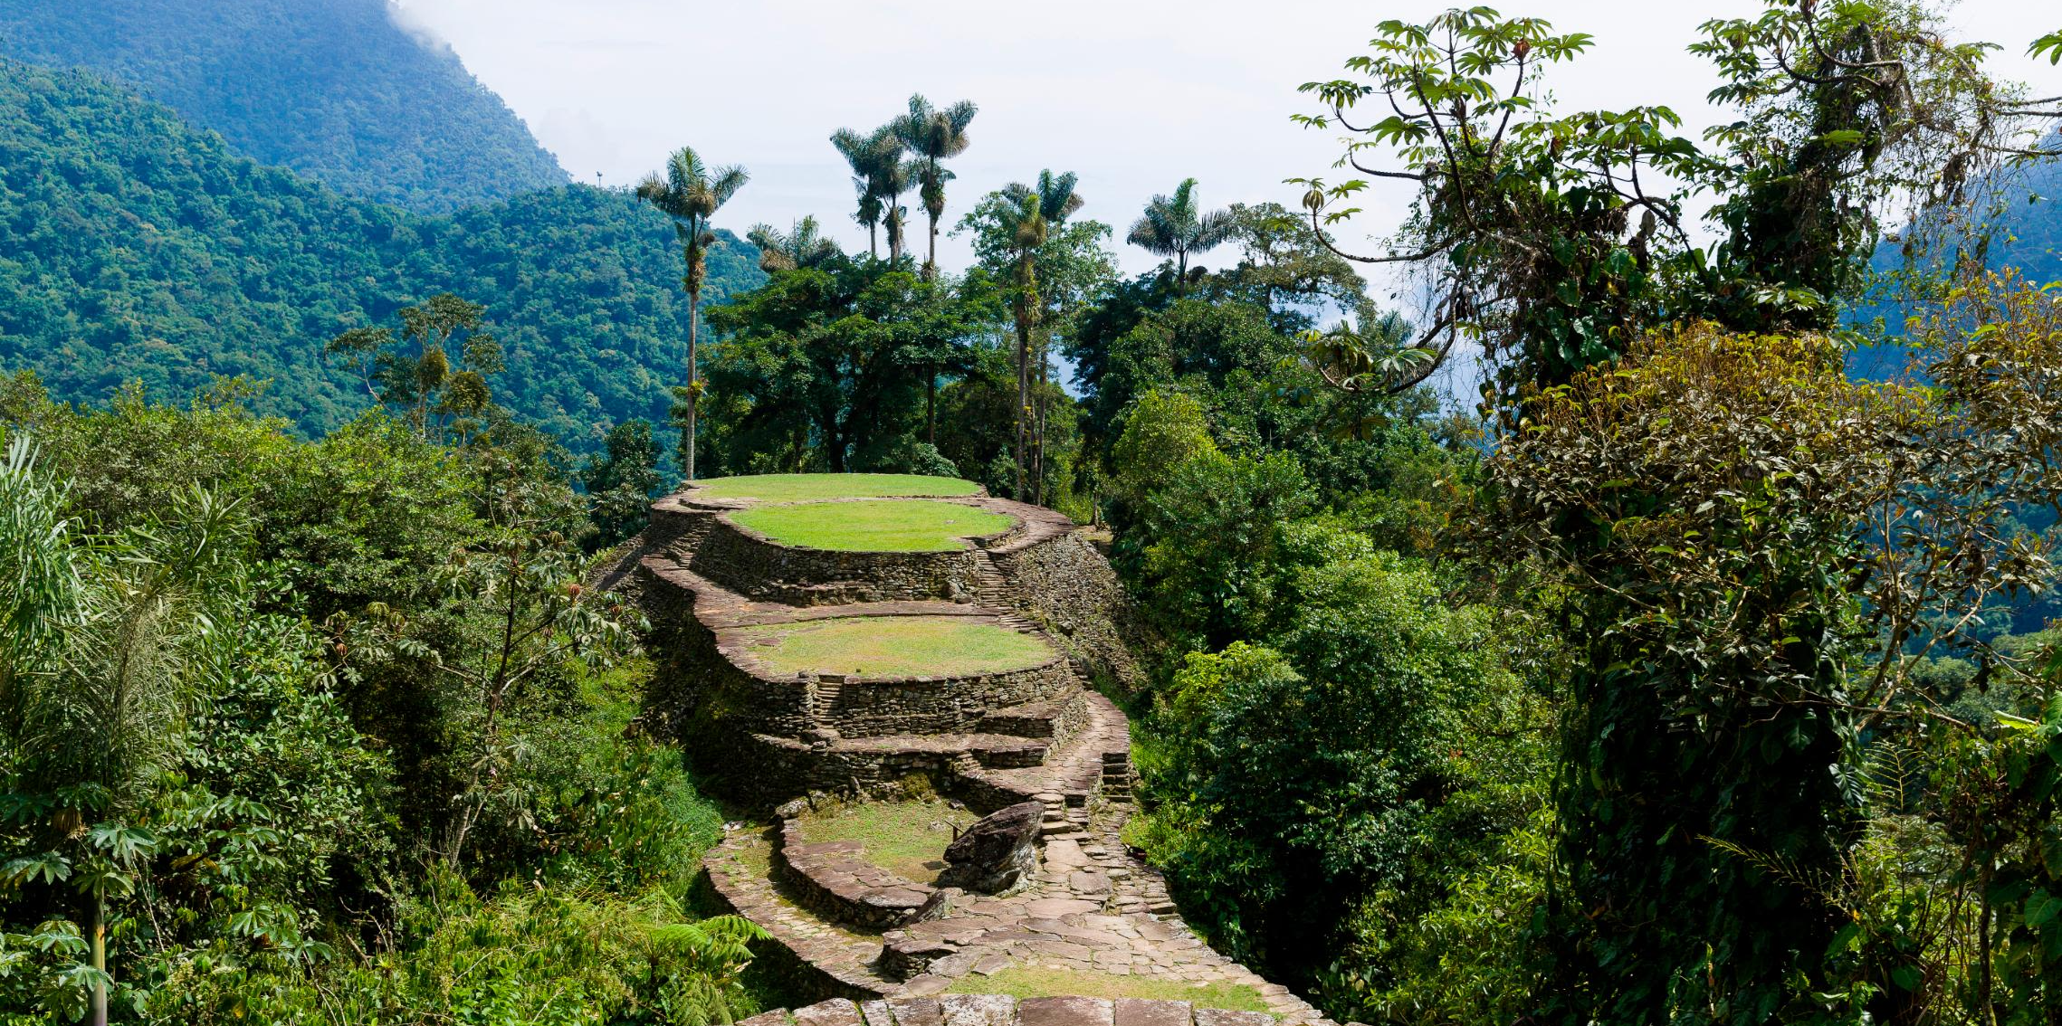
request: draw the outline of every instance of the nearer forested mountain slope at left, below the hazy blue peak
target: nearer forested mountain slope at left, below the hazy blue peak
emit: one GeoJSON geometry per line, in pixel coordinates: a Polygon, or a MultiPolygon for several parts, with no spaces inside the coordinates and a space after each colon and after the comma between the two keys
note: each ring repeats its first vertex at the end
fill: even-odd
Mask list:
{"type": "MultiPolygon", "coordinates": [[[[757,284],[755,255],[726,235],[705,301],[757,284]]],[[[264,412],[322,433],[369,404],[324,342],[452,290],[507,350],[497,400],[584,449],[664,416],[685,379],[678,282],[672,227],[627,192],[410,214],[239,159],[91,74],[0,62],[0,367],[62,400],[243,373],[270,381],[264,412]]]]}

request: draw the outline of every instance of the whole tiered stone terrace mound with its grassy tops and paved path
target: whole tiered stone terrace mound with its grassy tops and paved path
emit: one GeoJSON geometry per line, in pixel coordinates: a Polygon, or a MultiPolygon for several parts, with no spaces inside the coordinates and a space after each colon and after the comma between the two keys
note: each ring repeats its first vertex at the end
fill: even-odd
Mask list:
{"type": "MultiPolygon", "coordinates": [[[[1080,1003],[1093,1026],[1146,1012],[1136,1026],[1328,1026],[1212,952],[1126,849],[1128,723],[1052,632],[1052,610],[1076,591],[1050,581],[1068,577],[1037,577],[1074,548],[1093,558],[1074,529],[973,482],[897,474],[716,478],[654,505],[658,550],[639,558],[654,585],[691,595],[716,659],[701,686],[728,680],[742,703],[724,719],[732,766],[922,777],[955,795],[810,791],[804,808],[726,826],[705,859],[724,902],[831,993],[874,999],[755,1026],[932,1026],[924,1010],[984,991],[1072,995],[1052,1001],[1080,1003]],[[1041,556],[1047,542],[1066,546],[1041,556]],[[1027,600],[1039,581],[1068,597],[1027,600]],[[957,828],[1021,801],[1039,808],[1031,876],[1002,894],[942,886],[957,828]]],[[[1023,1022],[1006,997],[979,1001],[1010,1003],[984,1026],[1076,1026],[1047,1022],[1047,999],[1027,1001],[1023,1022]]],[[[973,1024],[936,1026],[959,1020],[973,1024]]]]}

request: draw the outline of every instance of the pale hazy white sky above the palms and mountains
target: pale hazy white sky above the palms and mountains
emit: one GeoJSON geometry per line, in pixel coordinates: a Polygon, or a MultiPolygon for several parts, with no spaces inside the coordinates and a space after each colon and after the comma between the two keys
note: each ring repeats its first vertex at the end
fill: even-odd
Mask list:
{"type": "MultiPolygon", "coordinates": [[[[1041,167],[1080,173],[1085,216],[1118,229],[1128,270],[1155,260],[1122,245],[1140,206],[1182,177],[1208,206],[1297,202],[1285,177],[1332,175],[1332,134],[1289,122],[1311,111],[1295,87],[1334,78],[1382,19],[1423,19],[1443,2],[1338,0],[400,0],[414,29],[447,41],[466,66],[530,122],[575,179],[631,183],[693,144],[740,163],[753,181],[718,223],[742,235],[817,214],[847,247],[850,171],[827,142],[905,109],[909,93],[971,99],[973,146],[951,167],[946,216],[1041,167]]],[[[1969,37],[2004,45],[1994,66],[2062,93],[2062,70],[2025,60],[2027,43],[2062,29],[2046,4],[1971,0],[1955,10],[1969,37]],[[2052,23],[2052,25],[2048,25],[2052,23]]],[[[1711,74],[1683,47],[1709,16],[1749,14],[1740,0],[1503,0],[1507,14],[1551,19],[1596,47],[1553,72],[1563,109],[1666,103],[1701,130],[1711,74]]],[[[1394,194],[1392,194],[1394,196],[1394,194]]],[[[913,227],[922,223],[907,198],[913,227]]],[[[1394,220],[1379,206],[1346,241],[1394,220]]],[[[911,233],[920,245],[920,235],[911,233]]],[[[963,241],[940,262],[965,264],[963,241]]],[[[1208,260],[1206,260],[1208,262],[1208,260]]]]}

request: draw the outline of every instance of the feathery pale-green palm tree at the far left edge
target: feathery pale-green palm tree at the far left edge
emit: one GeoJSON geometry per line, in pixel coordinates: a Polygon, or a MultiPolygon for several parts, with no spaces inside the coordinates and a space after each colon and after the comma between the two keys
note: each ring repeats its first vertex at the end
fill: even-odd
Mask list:
{"type": "Polygon", "coordinates": [[[23,754],[6,783],[56,799],[49,847],[0,880],[68,882],[87,898],[93,1026],[107,1024],[107,900],[134,892],[157,851],[136,814],[179,756],[188,659],[239,534],[235,503],[200,488],[169,499],[175,517],[80,544],[27,439],[0,466],[0,575],[21,585],[0,602],[0,744],[23,754]]]}

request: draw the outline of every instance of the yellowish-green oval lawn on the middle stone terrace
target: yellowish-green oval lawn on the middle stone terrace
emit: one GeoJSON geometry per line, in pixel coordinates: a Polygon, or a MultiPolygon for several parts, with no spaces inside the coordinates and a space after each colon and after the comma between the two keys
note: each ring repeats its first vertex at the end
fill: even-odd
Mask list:
{"type": "Polygon", "coordinates": [[[969,616],[839,616],[740,632],[753,657],[781,676],[1000,674],[1052,659],[1043,641],[969,616]]]}

